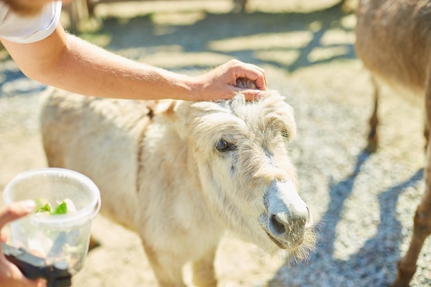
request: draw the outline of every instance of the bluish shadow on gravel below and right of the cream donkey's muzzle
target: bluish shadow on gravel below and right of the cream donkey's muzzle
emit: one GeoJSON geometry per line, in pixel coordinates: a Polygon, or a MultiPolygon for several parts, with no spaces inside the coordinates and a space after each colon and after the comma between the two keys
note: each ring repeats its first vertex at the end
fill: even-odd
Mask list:
{"type": "MultiPolygon", "coordinates": [[[[361,173],[361,167],[369,158],[362,152],[357,156],[355,169],[350,176],[340,182],[331,182],[328,187],[330,202],[322,217],[323,228],[317,248],[306,264],[298,264],[289,268],[282,267],[267,287],[387,287],[396,273],[394,258],[401,256],[402,225],[397,220],[397,201],[408,187],[414,187],[423,180],[423,169],[419,169],[410,178],[379,193],[380,218],[375,236],[347,259],[335,257],[335,240],[337,224],[342,218],[344,202],[353,191],[353,186],[361,173]],[[350,270],[352,273],[346,273],[350,270]]],[[[364,191],[366,192],[366,191],[364,191]]],[[[369,214],[364,214],[364,218],[369,214]]],[[[357,218],[357,220],[364,220],[357,218]]]]}

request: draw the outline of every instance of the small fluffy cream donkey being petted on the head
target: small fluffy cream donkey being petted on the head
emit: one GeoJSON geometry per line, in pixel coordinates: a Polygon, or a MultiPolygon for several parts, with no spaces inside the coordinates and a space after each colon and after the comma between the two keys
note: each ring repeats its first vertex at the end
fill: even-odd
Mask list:
{"type": "Polygon", "coordinates": [[[101,213],[140,236],[158,284],[215,287],[225,231],[273,256],[308,257],[311,213],[297,193],[288,142],[293,109],[259,101],[131,101],[55,90],[41,132],[50,167],[79,171],[101,190],[101,213]]]}

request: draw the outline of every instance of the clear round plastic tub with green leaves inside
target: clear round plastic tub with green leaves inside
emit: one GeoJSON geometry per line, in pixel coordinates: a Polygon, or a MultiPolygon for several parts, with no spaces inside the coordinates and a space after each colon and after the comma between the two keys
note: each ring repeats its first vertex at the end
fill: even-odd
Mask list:
{"type": "Polygon", "coordinates": [[[3,201],[48,200],[57,206],[69,199],[76,213],[50,215],[32,213],[10,224],[12,245],[42,257],[47,264],[64,262],[74,275],[87,257],[92,220],[101,208],[96,184],[68,169],[36,169],[20,173],[8,183],[3,201]]]}

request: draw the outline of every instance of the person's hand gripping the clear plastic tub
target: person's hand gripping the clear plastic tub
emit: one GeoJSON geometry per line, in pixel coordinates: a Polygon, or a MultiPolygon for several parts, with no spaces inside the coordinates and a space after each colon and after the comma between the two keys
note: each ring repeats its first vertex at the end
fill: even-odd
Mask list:
{"type": "MultiPolygon", "coordinates": [[[[0,208],[0,231],[8,222],[17,220],[19,217],[28,215],[34,210],[32,200],[13,202],[8,206],[0,208]]],[[[0,234],[0,239],[6,242],[6,235],[0,234]]],[[[0,286],[8,287],[46,287],[44,279],[30,280],[26,278],[17,266],[6,259],[1,251],[0,245],[0,286]]]]}

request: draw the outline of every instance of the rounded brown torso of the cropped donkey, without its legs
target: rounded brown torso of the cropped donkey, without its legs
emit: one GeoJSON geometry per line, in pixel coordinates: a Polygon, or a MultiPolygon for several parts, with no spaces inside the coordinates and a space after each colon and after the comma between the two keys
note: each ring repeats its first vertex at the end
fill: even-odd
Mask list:
{"type": "Polygon", "coordinates": [[[400,92],[424,94],[431,81],[429,0],[360,0],[355,32],[357,56],[372,74],[400,92]]]}

